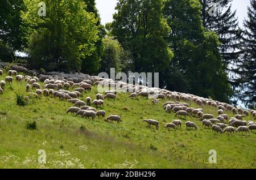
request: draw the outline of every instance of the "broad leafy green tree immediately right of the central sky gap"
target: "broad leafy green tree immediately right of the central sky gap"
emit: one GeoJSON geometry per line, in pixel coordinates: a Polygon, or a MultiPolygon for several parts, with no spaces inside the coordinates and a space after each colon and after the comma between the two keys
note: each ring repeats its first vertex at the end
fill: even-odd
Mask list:
{"type": "Polygon", "coordinates": [[[172,51],[164,38],[171,29],[162,7],[159,0],[119,0],[115,7],[110,31],[131,53],[137,72],[163,72],[170,64],[172,51]]]}

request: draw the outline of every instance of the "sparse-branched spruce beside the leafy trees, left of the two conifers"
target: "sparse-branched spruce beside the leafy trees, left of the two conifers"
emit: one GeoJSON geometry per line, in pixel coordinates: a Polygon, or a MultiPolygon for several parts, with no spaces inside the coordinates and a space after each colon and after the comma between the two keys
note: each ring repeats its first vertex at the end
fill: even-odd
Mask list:
{"type": "Polygon", "coordinates": [[[230,83],[234,87],[239,73],[241,29],[238,26],[236,11],[232,12],[233,0],[200,0],[202,5],[203,25],[207,31],[218,34],[221,42],[220,52],[222,62],[230,75],[230,83]]]}

